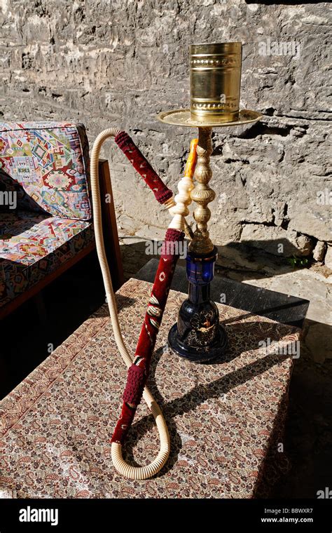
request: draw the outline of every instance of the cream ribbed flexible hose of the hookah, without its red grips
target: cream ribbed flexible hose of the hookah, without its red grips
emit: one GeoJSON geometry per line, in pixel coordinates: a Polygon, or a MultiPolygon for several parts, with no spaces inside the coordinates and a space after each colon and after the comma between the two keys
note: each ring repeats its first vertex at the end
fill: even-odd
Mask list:
{"type": "MultiPolygon", "coordinates": [[[[97,247],[97,255],[99,259],[100,268],[102,270],[102,278],[104,281],[104,287],[106,292],[107,302],[109,304],[109,313],[111,316],[111,324],[113,328],[114,338],[116,339],[116,346],[123,358],[126,367],[130,367],[133,358],[127,350],[127,346],[123,340],[123,336],[120,330],[120,324],[118,321],[118,311],[116,308],[116,299],[114,296],[113,285],[111,281],[111,274],[109,271],[109,265],[106,259],[106,252],[104,247],[104,236],[102,231],[102,209],[100,204],[100,190],[99,190],[99,176],[98,176],[98,162],[99,153],[102,148],[102,144],[109,137],[116,137],[120,133],[118,128],[108,128],[102,133],[99,133],[95,143],[92,147],[91,159],[90,159],[90,175],[91,175],[91,192],[92,192],[92,206],[93,206],[93,224],[95,228],[95,240],[97,247]]],[[[160,450],[157,457],[146,466],[131,466],[122,457],[122,448],[118,443],[111,444],[111,457],[113,465],[116,471],[125,478],[134,480],[151,478],[158,473],[165,465],[170,455],[170,435],[168,433],[167,425],[160,407],[153,398],[151,392],[147,387],[144,387],[143,398],[148,405],[148,409],[153,414],[155,419],[155,425],[157,426],[160,450]]]]}

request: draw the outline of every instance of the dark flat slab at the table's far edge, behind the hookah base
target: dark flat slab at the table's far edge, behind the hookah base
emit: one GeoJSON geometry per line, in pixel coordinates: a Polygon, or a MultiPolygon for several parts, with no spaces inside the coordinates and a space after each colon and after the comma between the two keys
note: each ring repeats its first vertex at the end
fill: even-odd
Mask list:
{"type": "MultiPolygon", "coordinates": [[[[153,283],[157,267],[158,259],[151,259],[134,277],[153,283]]],[[[185,294],[188,291],[188,281],[184,267],[177,266],[171,288],[185,294]]],[[[282,292],[263,289],[248,283],[240,283],[221,276],[214,276],[214,280],[211,283],[211,298],[214,302],[225,303],[236,309],[243,309],[244,311],[249,311],[249,313],[266,316],[274,321],[294,325],[298,328],[303,326],[310,303],[307,299],[284,295],[282,292]],[[221,301],[221,295],[223,294],[226,295],[225,302],[221,301]]]]}

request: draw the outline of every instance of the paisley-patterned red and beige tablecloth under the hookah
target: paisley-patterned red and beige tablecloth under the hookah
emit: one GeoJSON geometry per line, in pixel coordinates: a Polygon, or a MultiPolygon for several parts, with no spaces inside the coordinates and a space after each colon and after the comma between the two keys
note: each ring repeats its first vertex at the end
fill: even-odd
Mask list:
{"type": "MultiPolygon", "coordinates": [[[[151,284],[118,291],[132,353],[151,284]]],[[[102,306],[0,403],[0,497],[250,498],[264,496],[286,464],[281,442],[292,358],[260,341],[298,339],[299,330],[219,304],[230,349],[198,365],[167,348],[185,295],[170,291],[149,386],[170,429],[172,452],[153,479],[122,478],[111,462],[126,370],[102,306]]],[[[30,349],[33,349],[32,347],[30,349]]],[[[27,354],[28,355],[28,354],[27,354]]],[[[158,450],[143,402],[125,445],[132,464],[158,450]]]]}

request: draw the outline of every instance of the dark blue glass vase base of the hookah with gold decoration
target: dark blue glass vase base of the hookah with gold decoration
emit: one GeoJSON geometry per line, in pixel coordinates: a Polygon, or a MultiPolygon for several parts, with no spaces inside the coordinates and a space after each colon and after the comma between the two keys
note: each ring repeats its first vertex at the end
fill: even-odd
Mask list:
{"type": "Polygon", "coordinates": [[[220,357],[227,348],[226,331],[219,324],[219,311],[210,299],[216,247],[209,254],[188,252],[189,294],[179,310],[177,324],[168,336],[171,349],[197,363],[220,357]]]}

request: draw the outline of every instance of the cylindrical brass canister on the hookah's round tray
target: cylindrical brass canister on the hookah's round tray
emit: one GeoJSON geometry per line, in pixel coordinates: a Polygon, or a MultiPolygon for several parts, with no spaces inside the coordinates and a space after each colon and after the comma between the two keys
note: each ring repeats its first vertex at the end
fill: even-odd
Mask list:
{"type": "Polygon", "coordinates": [[[242,43],[190,46],[191,115],[204,122],[236,121],[240,107],[242,43]]]}

